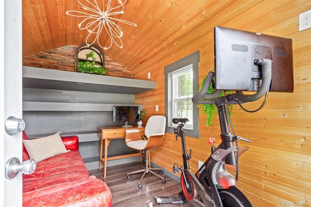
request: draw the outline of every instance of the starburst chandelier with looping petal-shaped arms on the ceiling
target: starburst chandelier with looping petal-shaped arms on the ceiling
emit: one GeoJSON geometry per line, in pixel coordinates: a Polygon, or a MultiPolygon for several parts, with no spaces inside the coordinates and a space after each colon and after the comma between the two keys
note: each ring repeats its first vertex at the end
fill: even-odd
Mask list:
{"type": "Polygon", "coordinates": [[[131,26],[137,26],[136,24],[122,20],[119,18],[114,18],[113,16],[120,15],[124,13],[124,2],[118,0],[115,7],[110,8],[111,0],[107,1],[106,11],[104,10],[104,0],[103,0],[103,10],[98,6],[97,0],[86,0],[90,5],[86,6],[77,0],[79,4],[82,5],[82,9],[85,11],[67,11],[66,14],[73,17],[85,17],[79,24],[80,30],[87,30],[89,34],[86,37],[86,45],[90,46],[97,41],[97,44],[104,50],[111,48],[112,44],[115,43],[119,48],[123,47],[121,37],[123,36],[122,28],[117,25],[116,22],[122,22],[131,26]],[[99,42],[99,37],[103,30],[109,35],[110,44],[109,46],[102,46],[99,42]]]}

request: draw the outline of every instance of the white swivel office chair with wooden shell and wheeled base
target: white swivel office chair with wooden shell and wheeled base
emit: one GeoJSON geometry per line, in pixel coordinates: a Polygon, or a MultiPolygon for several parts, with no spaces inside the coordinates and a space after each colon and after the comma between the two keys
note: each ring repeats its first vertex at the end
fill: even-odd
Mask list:
{"type": "Polygon", "coordinates": [[[163,174],[163,169],[160,168],[151,168],[149,162],[149,149],[153,147],[158,147],[163,144],[163,138],[165,134],[166,127],[166,117],[165,116],[151,116],[145,126],[145,136],[142,138],[138,129],[127,129],[125,130],[125,143],[128,147],[139,150],[140,152],[145,150],[146,152],[146,167],[143,167],[141,170],[127,173],[127,179],[130,179],[130,174],[142,173],[143,175],[138,181],[138,188],[142,188],[140,183],[142,178],[146,173],[153,173],[156,176],[162,179],[162,183],[165,184],[166,180],[160,175],[154,173],[152,170],[159,170],[160,174],[163,174]]]}

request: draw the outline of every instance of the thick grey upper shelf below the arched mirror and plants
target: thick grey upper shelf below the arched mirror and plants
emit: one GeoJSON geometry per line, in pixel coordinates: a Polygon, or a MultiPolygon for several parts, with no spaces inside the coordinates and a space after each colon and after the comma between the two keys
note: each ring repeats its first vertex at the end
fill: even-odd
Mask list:
{"type": "Polygon", "coordinates": [[[155,89],[155,82],[23,66],[23,87],[138,94],[155,89]]]}

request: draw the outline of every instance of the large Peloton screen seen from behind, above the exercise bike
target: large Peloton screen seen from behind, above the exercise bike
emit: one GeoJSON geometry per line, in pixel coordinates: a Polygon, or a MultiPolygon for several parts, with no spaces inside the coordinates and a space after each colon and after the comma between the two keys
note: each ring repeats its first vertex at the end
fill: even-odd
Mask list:
{"type": "Polygon", "coordinates": [[[215,27],[214,52],[216,89],[258,90],[261,66],[255,65],[254,61],[270,59],[270,91],[294,91],[292,39],[215,27]]]}

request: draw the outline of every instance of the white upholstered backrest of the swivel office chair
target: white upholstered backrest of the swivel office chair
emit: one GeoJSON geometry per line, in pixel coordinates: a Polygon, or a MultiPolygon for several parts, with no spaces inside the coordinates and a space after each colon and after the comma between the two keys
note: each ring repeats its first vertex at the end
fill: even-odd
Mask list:
{"type": "Polygon", "coordinates": [[[150,135],[165,133],[166,117],[155,115],[151,116],[145,126],[145,136],[149,138],[150,135]]]}

